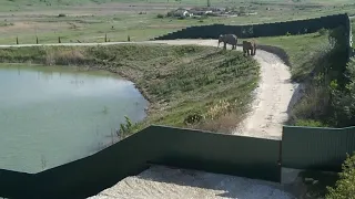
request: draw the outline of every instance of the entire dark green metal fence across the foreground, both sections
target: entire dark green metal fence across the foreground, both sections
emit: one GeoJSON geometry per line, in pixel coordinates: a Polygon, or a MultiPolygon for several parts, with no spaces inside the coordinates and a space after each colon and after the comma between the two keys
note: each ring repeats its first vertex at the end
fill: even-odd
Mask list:
{"type": "Polygon", "coordinates": [[[150,126],[92,156],[38,174],[0,170],[6,198],[87,198],[150,164],[281,182],[281,167],[339,171],[355,151],[355,128],[283,128],[262,139],[150,126]]]}

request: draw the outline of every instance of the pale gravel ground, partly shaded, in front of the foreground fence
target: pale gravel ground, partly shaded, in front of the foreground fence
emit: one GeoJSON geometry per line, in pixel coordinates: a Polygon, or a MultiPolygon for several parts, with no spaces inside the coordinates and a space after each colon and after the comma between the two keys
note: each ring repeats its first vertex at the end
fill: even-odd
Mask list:
{"type": "Polygon", "coordinates": [[[277,184],[211,172],[153,167],[89,199],[292,199],[277,184]]]}

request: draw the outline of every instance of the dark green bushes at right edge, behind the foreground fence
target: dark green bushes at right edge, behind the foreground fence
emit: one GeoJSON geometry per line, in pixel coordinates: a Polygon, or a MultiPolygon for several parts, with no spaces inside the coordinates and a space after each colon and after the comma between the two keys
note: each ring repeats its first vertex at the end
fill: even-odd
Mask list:
{"type": "Polygon", "coordinates": [[[294,72],[293,78],[302,80],[306,88],[292,109],[292,125],[355,125],[355,85],[352,84],[355,81],[355,61],[346,67],[347,42],[344,31],[343,27],[328,31],[328,43],[313,50],[303,59],[300,72],[294,72]]]}

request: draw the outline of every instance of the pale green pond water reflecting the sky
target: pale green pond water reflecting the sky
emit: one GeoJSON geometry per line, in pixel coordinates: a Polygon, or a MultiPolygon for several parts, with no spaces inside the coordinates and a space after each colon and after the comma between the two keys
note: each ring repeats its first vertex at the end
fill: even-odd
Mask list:
{"type": "Polygon", "coordinates": [[[132,82],[65,66],[0,65],[0,168],[38,172],[85,157],[145,117],[132,82]],[[113,135],[113,136],[112,136],[113,135]]]}

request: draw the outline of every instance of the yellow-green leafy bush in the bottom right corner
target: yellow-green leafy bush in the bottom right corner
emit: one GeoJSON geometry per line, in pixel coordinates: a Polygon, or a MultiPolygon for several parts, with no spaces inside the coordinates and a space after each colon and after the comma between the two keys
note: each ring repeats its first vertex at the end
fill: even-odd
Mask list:
{"type": "Polygon", "coordinates": [[[327,187],[326,199],[354,199],[355,198],[355,153],[344,161],[343,171],[335,184],[335,188],[327,187]]]}

